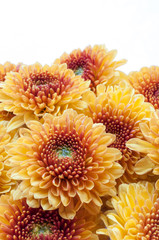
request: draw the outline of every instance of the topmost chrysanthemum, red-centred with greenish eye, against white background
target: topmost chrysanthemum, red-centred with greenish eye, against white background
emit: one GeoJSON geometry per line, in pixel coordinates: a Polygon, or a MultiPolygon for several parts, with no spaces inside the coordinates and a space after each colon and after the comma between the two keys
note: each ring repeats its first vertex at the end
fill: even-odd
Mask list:
{"type": "Polygon", "coordinates": [[[117,79],[119,72],[115,69],[126,61],[113,61],[117,54],[116,50],[108,51],[103,45],[86,47],[64,53],[55,63],[67,63],[75,75],[80,75],[85,80],[91,80],[90,88],[95,92],[99,83],[110,84],[117,79]]]}

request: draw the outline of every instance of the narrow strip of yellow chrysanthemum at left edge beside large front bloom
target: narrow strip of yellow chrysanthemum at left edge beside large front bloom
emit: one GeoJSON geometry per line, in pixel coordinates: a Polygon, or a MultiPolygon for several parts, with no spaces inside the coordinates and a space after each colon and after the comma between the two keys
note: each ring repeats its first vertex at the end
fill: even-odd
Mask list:
{"type": "Polygon", "coordinates": [[[15,181],[7,176],[9,167],[6,165],[7,153],[5,146],[13,139],[13,136],[7,133],[7,128],[0,124],[0,194],[9,192],[15,181]]]}

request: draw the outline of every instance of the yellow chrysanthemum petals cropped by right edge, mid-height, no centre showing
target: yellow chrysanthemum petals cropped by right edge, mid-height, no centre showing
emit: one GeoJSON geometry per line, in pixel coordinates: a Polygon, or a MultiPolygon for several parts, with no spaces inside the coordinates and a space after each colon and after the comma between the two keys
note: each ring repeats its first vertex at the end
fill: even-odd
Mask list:
{"type": "MultiPolygon", "coordinates": [[[[145,154],[145,157],[136,163],[135,171],[139,175],[152,172],[159,176],[159,110],[153,113],[149,122],[141,123],[140,129],[145,139],[133,138],[127,142],[130,149],[145,154]]],[[[159,189],[159,180],[156,187],[159,189]]]]}

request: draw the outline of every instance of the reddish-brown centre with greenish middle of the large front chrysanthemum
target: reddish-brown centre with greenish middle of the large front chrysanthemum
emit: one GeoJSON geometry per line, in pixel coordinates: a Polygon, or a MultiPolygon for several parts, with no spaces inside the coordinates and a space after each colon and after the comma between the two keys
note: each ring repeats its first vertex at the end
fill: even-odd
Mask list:
{"type": "Polygon", "coordinates": [[[74,132],[50,135],[46,144],[40,145],[39,164],[44,163],[52,176],[59,178],[81,178],[85,169],[86,149],[78,134],[74,132]]]}

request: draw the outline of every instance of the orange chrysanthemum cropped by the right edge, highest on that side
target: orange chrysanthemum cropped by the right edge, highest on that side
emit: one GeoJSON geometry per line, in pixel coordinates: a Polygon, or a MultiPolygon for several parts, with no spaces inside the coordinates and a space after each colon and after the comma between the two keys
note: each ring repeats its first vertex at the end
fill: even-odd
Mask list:
{"type": "Polygon", "coordinates": [[[159,108],[159,67],[144,67],[139,72],[132,72],[128,77],[136,93],[145,96],[156,109],[159,108]]]}

